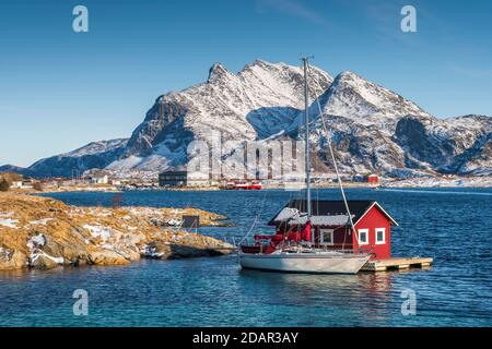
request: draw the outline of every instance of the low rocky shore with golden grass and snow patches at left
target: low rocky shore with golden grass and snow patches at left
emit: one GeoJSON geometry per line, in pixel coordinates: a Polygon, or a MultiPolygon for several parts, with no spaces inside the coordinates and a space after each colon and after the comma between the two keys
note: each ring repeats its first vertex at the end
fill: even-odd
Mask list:
{"type": "Polygon", "coordinates": [[[78,207],[0,193],[0,270],[231,253],[232,245],[223,241],[177,228],[183,215],[200,216],[202,226],[226,219],[195,208],[78,207]]]}

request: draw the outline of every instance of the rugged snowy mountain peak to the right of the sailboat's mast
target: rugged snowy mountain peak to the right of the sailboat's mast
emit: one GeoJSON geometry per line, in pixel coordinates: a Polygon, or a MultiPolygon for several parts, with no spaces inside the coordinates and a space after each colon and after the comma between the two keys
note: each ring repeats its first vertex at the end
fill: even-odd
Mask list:
{"type": "MultiPolygon", "coordinates": [[[[401,176],[422,170],[487,173],[492,169],[489,117],[437,119],[351,72],[338,75],[319,103],[344,171],[401,176]]],[[[309,112],[312,118],[319,115],[317,104],[309,112]]],[[[327,134],[319,117],[315,122],[319,151],[326,148],[327,134]]]]}

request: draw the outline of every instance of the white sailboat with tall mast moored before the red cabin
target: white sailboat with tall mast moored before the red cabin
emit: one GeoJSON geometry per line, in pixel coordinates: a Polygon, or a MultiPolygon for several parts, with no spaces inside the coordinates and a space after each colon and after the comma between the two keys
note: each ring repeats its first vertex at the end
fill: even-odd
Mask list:
{"type": "MultiPolygon", "coordinates": [[[[308,273],[308,274],[356,274],[371,258],[367,252],[352,250],[337,251],[317,246],[315,234],[311,231],[312,202],[311,202],[311,164],[309,164],[309,120],[308,120],[308,85],[307,70],[308,59],[303,59],[304,65],[304,101],[305,101],[305,135],[306,135],[306,217],[302,231],[291,239],[284,234],[256,236],[257,241],[251,244],[242,244],[238,257],[239,264],[246,269],[281,272],[281,273],[308,273]],[[269,240],[268,244],[261,241],[269,240]]],[[[335,163],[333,152],[330,146],[340,190],[342,193],[347,217],[352,231],[355,231],[350,214],[349,205],[343,192],[338,168],[335,163]]],[[[356,234],[354,234],[358,239],[356,234]]]]}

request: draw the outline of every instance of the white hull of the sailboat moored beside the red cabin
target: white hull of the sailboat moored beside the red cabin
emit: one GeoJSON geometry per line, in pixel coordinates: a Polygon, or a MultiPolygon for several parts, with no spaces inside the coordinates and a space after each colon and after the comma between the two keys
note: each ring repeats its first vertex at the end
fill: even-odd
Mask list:
{"type": "Polygon", "coordinates": [[[245,269],[304,274],[356,274],[368,260],[328,253],[239,254],[245,269]]]}

